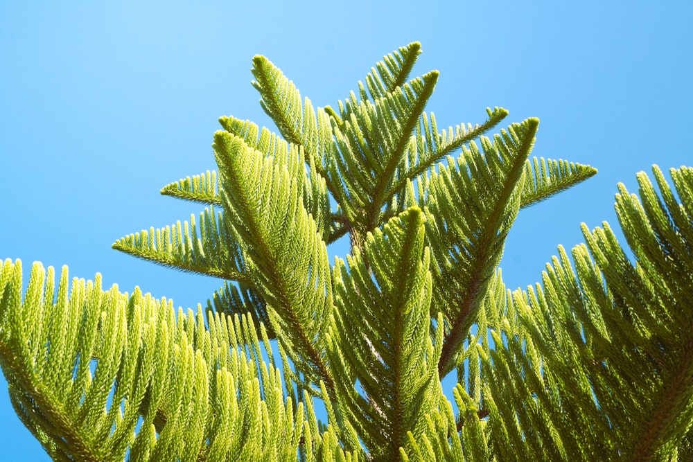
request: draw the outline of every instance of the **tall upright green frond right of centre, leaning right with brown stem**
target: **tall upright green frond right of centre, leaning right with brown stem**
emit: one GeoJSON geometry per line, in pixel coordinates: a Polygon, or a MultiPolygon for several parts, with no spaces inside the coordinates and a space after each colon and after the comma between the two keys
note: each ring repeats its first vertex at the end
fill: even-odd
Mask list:
{"type": "Polygon", "coordinates": [[[483,153],[471,143],[456,162],[450,158],[450,167],[440,165],[420,186],[435,263],[433,309],[441,310],[446,321],[441,377],[457,366],[457,350],[500,262],[519,210],[525,161],[537,127],[538,120],[530,118],[503,130],[493,143],[482,138],[483,153]]]}

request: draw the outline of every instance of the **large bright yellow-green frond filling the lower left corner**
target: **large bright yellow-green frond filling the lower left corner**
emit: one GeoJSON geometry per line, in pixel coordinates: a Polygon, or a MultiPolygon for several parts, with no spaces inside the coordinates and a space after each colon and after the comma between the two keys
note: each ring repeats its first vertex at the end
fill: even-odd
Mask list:
{"type": "Polygon", "coordinates": [[[0,263],[0,364],[53,460],[295,461],[301,447],[317,455],[306,460],[362,460],[334,428],[308,431],[312,413],[284,398],[252,321],[175,314],[137,289],[104,292],[98,274],[68,281],[67,267],[56,287],[35,264],[23,294],[19,260],[0,263]]]}

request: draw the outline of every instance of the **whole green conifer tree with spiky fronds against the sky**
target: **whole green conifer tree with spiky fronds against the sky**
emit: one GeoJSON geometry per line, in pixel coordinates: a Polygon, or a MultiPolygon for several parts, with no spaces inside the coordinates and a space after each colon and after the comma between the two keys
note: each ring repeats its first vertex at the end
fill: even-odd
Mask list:
{"type": "Polygon", "coordinates": [[[385,56],[336,109],[254,57],[279,134],[220,118],[218,171],[161,190],[199,220],[113,245],[225,280],[204,309],[40,263],[24,290],[1,263],[0,364],[53,460],[692,460],[693,169],[618,186],[634,260],[583,225],[512,292],[518,213],[596,170],[530,159],[535,118],[485,137],[505,109],[439,130],[419,53],[385,56]]]}

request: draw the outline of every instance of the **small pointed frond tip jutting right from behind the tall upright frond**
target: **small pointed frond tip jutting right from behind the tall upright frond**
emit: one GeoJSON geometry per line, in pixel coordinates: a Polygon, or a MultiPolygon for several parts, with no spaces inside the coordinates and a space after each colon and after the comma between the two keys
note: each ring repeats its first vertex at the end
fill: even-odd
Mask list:
{"type": "Polygon", "coordinates": [[[596,168],[563,159],[527,159],[525,188],[520,207],[532,206],[596,174],[596,168]]]}

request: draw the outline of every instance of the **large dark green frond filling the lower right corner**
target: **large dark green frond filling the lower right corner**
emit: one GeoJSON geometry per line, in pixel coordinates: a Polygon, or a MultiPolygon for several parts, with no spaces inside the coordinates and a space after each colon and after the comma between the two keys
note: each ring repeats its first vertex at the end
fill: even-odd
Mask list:
{"type": "MultiPolygon", "coordinates": [[[[494,332],[486,390],[504,460],[669,460],[693,418],[693,169],[671,170],[658,195],[619,186],[616,209],[635,256],[613,231],[589,231],[572,259],[559,248],[543,285],[508,305],[525,334],[494,332]],[[591,256],[591,258],[590,258],[591,256]],[[502,451],[513,443],[513,450],[502,451]],[[524,456],[522,454],[525,454],[524,456]],[[539,454],[539,456],[537,456],[539,454]]],[[[521,332],[521,331],[520,331],[521,332]]]]}

